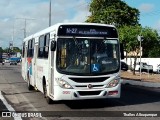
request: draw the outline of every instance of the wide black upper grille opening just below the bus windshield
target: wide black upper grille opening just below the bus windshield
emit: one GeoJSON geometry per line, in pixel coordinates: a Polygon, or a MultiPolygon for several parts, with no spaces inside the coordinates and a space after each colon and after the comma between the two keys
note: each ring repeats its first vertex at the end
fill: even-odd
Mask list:
{"type": "Polygon", "coordinates": [[[72,78],[69,79],[73,80],[77,83],[96,83],[96,82],[103,82],[107,80],[109,77],[98,77],[98,78],[72,78]]]}

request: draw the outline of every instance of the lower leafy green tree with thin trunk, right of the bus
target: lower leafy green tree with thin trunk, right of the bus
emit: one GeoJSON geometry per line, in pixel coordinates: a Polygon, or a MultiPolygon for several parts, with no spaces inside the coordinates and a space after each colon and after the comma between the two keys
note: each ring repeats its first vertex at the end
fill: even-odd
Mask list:
{"type": "Polygon", "coordinates": [[[135,64],[140,53],[138,35],[143,36],[143,41],[141,42],[143,57],[160,56],[160,41],[156,30],[149,27],[142,28],[141,26],[123,26],[119,28],[120,41],[124,44],[126,53],[132,53],[132,57],[134,57],[133,74],[135,74],[135,64]]]}

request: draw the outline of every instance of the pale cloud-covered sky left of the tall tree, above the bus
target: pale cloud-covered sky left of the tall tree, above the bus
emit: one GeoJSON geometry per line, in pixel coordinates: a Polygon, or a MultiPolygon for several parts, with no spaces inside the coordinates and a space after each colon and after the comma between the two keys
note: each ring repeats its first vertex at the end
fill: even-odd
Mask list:
{"type": "MultiPolygon", "coordinates": [[[[52,0],[52,25],[84,22],[89,15],[88,9],[86,0],[52,0]]],[[[49,0],[0,0],[0,11],[0,43],[3,48],[8,47],[12,40],[13,24],[14,45],[22,43],[24,18],[27,35],[45,29],[49,24],[49,0]],[[32,18],[34,20],[30,20],[32,18]]]]}

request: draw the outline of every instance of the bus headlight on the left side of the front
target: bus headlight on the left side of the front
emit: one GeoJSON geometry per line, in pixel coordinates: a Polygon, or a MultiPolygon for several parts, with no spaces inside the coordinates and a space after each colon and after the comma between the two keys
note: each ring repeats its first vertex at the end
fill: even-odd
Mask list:
{"type": "Polygon", "coordinates": [[[68,82],[66,82],[65,80],[63,80],[63,79],[61,79],[61,78],[57,78],[57,79],[56,79],[56,82],[58,83],[58,85],[59,85],[61,88],[73,89],[73,87],[72,87],[68,82]]]}

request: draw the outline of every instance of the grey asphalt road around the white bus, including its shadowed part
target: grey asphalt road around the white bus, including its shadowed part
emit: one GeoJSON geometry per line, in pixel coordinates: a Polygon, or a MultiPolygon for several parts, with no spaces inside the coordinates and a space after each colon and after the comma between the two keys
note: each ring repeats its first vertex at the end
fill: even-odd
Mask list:
{"type": "MultiPolygon", "coordinates": [[[[48,105],[41,92],[28,91],[27,83],[21,77],[20,65],[0,65],[0,91],[3,91],[4,97],[16,111],[39,111],[44,114],[43,116],[52,114],[52,117],[46,116],[41,119],[151,119],[151,117],[126,117],[124,116],[125,113],[125,115],[128,114],[130,116],[137,113],[152,113],[160,116],[160,89],[131,85],[122,85],[120,99],[60,101],[48,105]]],[[[159,118],[154,117],[152,119],[159,118]]]]}

